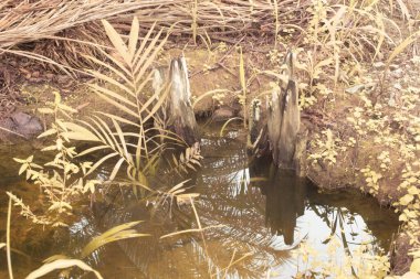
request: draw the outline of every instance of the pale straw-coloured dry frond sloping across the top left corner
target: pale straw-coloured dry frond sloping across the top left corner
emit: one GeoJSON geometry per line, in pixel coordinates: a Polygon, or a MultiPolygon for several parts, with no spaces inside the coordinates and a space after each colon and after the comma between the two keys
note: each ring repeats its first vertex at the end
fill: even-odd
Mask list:
{"type": "Polygon", "coordinates": [[[48,39],[59,32],[96,20],[166,1],[6,1],[0,6],[0,49],[48,39]]]}

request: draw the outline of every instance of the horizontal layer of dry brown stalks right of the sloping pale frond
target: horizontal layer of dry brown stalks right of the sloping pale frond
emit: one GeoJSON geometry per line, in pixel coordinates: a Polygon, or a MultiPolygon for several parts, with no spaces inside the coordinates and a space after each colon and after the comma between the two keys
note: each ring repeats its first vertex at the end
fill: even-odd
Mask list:
{"type": "MultiPolygon", "coordinates": [[[[149,28],[155,22],[158,26],[174,28],[174,34],[210,39],[227,39],[243,34],[275,33],[275,24],[291,28],[304,24],[307,20],[308,0],[279,0],[276,4],[266,0],[221,0],[167,1],[166,4],[137,10],[143,28],[149,28]],[[274,13],[277,10],[279,22],[274,13]]],[[[118,17],[120,29],[128,30],[129,18],[118,17]]]]}

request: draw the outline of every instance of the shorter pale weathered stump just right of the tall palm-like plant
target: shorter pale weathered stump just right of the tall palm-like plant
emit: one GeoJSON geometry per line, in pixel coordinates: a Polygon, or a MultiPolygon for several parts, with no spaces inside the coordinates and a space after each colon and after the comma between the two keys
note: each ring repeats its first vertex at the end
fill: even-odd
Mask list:
{"type": "Polygon", "coordinates": [[[169,97],[160,112],[164,128],[172,131],[188,146],[199,142],[196,116],[190,101],[187,62],[183,55],[174,58],[169,68],[155,69],[153,81],[155,92],[161,92],[160,96],[162,96],[165,85],[169,86],[169,97]]]}

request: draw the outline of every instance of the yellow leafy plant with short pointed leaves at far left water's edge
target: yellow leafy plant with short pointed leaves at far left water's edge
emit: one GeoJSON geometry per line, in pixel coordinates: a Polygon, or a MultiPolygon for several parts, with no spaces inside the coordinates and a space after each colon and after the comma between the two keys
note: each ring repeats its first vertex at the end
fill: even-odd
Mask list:
{"type": "MultiPolygon", "coordinates": [[[[54,136],[52,144],[42,149],[44,152],[54,152],[54,158],[44,165],[34,163],[33,155],[27,159],[14,158],[14,161],[21,164],[19,174],[24,173],[28,181],[40,186],[46,198],[48,210],[44,215],[36,216],[19,197],[10,192],[8,195],[14,205],[21,207],[21,214],[32,222],[42,225],[65,226],[62,217],[72,214],[72,200],[87,191],[94,193],[95,184],[98,181],[86,179],[92,162],[74,162],[73,159],[77,153],[75,148],[70,146],[70,138],[75,137],[75,131],[71,131],[73,125],[69,120],[72,118],[70,114],[75,110],[62,104],[59,93],[54,94],[54,101],[50,103],[49,107],[40,109],[41,112],[53,116],[52,128],[39,136],[39,138],[54,136]]],[[[96,138],[87,130],[78,132],[83,132],[86,139],[96,138]]]]}

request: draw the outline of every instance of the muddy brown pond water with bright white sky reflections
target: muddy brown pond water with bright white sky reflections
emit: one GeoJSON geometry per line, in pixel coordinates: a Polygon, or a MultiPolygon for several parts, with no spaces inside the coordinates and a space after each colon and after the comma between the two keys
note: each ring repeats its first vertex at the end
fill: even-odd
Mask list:
{"type": "MultiPolygon", "coordinates": [[[[207,129],[202,168],[187,183],[189,192],[200,194],[195,206],[204,233],[161,239],[198,227],[191,206],[166,200],[155,210],[126,190],[112,191],[92,208],[82,206],[69,229],[34,228],[14,210],[12,246],[24,254],[12,254],[15,278],[24,278],[52,255],[77,255],[94,236],[132,221],[145,221],[136,228],[151,236],[109,244],[91,255],[85,261],[104,278],[266,278],[267,272],[270,278],[292,278],[303,268],[300,243],[311,245],[318,259],[334,262],[361,244],[370,244],[372,255],[388,251],[398,229],[390,210],[357,192],[321,193],[311,182],[277,171],[264,160],[249,163],[238,131],[224,138],[218,132],[207,129]],[[328,253],[330,236],[339,240],[334,256],[328,253]]],[[[13,191],[24,201],[39,198],[38,187],[15,175],[19,165],[10,157],[31,152],[29,147],[20,150],[3,147],[0,151],[0,242],[6,237],[4,192],[13,191]]],[[[0,278],[8,277],[3,254],[0,278]]]]}

